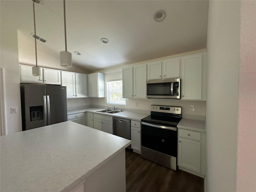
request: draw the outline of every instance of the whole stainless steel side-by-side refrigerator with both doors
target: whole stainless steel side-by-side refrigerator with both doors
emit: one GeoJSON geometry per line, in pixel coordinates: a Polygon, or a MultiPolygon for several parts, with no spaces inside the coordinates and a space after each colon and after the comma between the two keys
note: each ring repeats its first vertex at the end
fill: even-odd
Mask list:
{"type": "Polygon", "coordinates": [[[20,84],[22,130],[67,121],[66,87],[20,84]]]}

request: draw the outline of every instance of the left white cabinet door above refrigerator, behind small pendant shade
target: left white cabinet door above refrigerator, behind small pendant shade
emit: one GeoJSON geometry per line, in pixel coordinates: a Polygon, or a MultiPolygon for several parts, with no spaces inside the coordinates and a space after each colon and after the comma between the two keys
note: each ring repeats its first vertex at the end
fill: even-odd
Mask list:
{"type": "MultiPolygon", "coordinates": [[[[42,68],[41,68],[42,74],[42,68]]],[[[42,83],[43,76],[33,76],[32,66],[20,65],[20,82],[32,82],[32,83],[42,83]]]]}

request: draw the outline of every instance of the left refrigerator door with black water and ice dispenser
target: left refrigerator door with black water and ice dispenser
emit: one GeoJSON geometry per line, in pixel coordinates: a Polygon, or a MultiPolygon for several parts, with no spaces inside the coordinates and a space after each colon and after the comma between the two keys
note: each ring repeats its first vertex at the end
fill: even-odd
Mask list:
{"type": "Polygon", "coordinates": [[[22,106],[22,130],[47,125],[45,86],[39,84],[20,84],[22,106]]]}

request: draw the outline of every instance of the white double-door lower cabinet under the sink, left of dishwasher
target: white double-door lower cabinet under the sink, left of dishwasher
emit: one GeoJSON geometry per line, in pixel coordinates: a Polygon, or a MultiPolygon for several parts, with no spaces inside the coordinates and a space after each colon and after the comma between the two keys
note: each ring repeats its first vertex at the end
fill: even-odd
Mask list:
{"type": "Polygon", "coordinates": [[[89,117],[90,121],[93,119],[93,128],[113,134],[113,120],[112,116],[93,114],[93,118],[89,117]]]}

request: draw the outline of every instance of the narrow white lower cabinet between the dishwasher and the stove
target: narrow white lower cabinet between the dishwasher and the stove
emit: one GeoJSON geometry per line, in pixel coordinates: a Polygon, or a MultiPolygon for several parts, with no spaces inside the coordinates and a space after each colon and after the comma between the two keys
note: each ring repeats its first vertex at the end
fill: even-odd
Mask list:
{"type": "Polygon", "coordinates": [[[140,121],[131,120],[131,148],[136,153],[141,153],[140,150],[140,121]]]}

